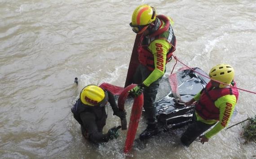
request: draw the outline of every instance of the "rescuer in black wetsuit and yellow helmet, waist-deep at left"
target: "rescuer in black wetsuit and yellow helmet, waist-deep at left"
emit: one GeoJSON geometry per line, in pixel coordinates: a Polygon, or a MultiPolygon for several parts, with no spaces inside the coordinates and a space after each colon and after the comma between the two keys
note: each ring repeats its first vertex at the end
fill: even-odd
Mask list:
{"type": "Polygon", "coordinates": [[[84,87],[80,93],[80,98],[71,109],[75,120],[81,126],[84,138],[94,143],[108,142],[119,136],[121,126],[113,127],[108,130],[107,134],[102,134],[103,127],[106,125],[105,106],[107,102],[110,103],[114,115],[121,119],[126,117],[126,112],[118,109],[113,94],[96,85],[84,87]]]}

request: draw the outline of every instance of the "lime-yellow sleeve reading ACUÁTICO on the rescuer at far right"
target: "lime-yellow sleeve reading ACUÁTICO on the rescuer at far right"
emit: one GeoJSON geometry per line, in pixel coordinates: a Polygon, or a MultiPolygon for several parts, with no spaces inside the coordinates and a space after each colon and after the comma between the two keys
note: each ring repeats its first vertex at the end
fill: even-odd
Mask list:
{"type": "Polygon", "coordinates": [[[234,95],[222,96],[215,101],[215,105],[220,109],[220,119],[218,123],[205,134],[206,138],[211,138],[213,135],[217,134],[228,125],[234,112],[236,97],[234,95]]]}

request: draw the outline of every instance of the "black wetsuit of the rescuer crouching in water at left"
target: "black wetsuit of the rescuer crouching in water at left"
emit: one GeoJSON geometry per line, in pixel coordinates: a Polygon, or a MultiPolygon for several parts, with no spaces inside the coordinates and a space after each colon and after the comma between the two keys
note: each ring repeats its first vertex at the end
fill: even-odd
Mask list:
{"type": "MultiPolygon", "coordinates": [[[[111,92],[104,90],[108,93],[108,102],[110,103],[113,111],[118,109],[115,98],[111,92]]],[[[71,109],[74,118],[81,125],[81,131],[85,138],[88,138],[94,143],[108,142],[109,137],[107,134],[102,134],[103,127],[106,125],[106,110],[104,107],[84,105],[78,99],[71,109]]]]}

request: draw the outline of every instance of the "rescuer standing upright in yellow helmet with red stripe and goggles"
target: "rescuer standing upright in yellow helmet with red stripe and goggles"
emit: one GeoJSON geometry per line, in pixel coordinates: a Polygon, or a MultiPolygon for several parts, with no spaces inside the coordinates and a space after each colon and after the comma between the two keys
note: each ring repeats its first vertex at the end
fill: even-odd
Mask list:
{"type": "Polygon", "coordinates": [[[176,38],[172,25],[171,18],[157,15],[154,7],[147,4],[138,6],[132,14],[130,26],[141,38],[137,49],[140,65],[133,76],[133,83],[138,85],[130,92],[135,96],[143,92],[148,124],[140,135],[141,139],[159,133],[154,102],[165,65],[175,51],[176,38]]]}

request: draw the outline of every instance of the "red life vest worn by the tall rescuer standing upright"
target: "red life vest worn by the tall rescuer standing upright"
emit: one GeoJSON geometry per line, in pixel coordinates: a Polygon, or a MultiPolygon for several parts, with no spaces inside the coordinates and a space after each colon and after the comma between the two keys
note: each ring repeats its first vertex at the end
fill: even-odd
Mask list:
{"type": "MultiPolygon", "coordinates": [[[[150,45],[151,42],[153,42],[156,39],[165,39],[168,43],[170,43],[170,45],[172,47],[166,55],[166,64],[171,60],[172,53],[176,50],[176,48],[175,48],[175,46],[176,46],[176,37],[173,33],[172,26],[170,25],[170,21],[168,20],[168,17],[165,17],[163,15],[158,15],[157,18],[164,21],[165,26],[163,28],[161,28],[161,26],[160,26],[159,28],[161,28],[161,29],[158,29],[157,31],[155,31],[149,37],[145,37],[144,35],[141,35],[141,39],[140,39],[139,46],[138,46],[138,49],[137,49],[139,62],[142,65],[146,66],[150,71],[153,71],[154,68],[155,68],[154,67],[154,56],[150,52],[150,50],[148,50],[148,48],[147,48],[150,45]],[[168,38],[161,37],[161,34],[164,33],[164,32],[169,32],[168,38]],[[146,43],[147,43],[146,45],[142,44],[143,40],[144,41],[146,40],[146,43]]],[[[161,60],[163,61],[163,58],[161,58],[161,55],[158,58],[158,60],[160,62],[161,62],[161,60]]]]}

